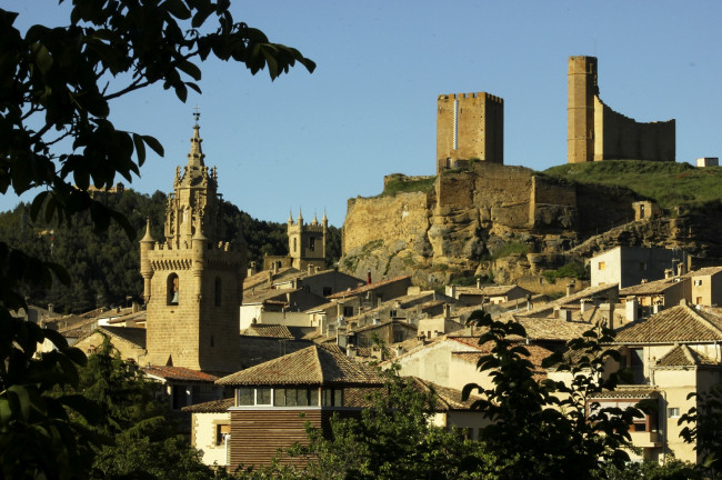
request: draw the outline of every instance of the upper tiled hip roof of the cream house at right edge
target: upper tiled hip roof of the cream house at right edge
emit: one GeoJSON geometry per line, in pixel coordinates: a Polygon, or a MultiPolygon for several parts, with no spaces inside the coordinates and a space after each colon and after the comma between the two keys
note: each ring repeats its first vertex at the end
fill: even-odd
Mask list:
{"type": "Polygon", "coordinates": [[[673,343],[722,340],[722,317],[688,306],[662,310],[646,320],[623,327],[615,343],[673,343]]]}

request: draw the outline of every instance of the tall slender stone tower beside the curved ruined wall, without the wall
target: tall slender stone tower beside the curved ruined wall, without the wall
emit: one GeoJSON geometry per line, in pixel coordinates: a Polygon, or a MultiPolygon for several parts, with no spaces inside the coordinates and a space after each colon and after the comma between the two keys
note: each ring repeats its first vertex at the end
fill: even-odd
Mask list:
{"type": "Polygon", "coordinates": [[[596,58],[569,58],[568,162],[594,161],[594,97],[596,83],[596,58]]]}

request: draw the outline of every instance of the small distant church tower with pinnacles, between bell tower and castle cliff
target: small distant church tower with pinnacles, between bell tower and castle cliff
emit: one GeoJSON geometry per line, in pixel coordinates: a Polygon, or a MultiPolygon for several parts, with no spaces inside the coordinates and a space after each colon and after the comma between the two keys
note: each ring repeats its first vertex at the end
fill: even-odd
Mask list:
{"type": "Polygon", "coordinates": [[[304,270],[309,263],[323,267],[325,263],[325,240],[329,230],[329,220],[325,212],[323,212],[323,219],[320,223],[315,214],[311,223],[304,223],[299,209],[299,218],[295,222],[289,214],[288,229],[291,266],[299,270],[304,270]]]}

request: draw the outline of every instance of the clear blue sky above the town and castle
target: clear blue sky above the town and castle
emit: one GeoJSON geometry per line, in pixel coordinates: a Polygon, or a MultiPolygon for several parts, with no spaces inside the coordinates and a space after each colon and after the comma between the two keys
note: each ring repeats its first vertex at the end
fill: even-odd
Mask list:
{"type": "MultiPolygon", "coordinates": [[[[62,24],[56,0],[2,0],[19,23],[62,24]]],[[[676,160],[722,156],[722,2],[232,0],[237,21],[318,63],[271,82],[238,64],[201,66],[202,96],[162,89],[111,104],[118,128],[158,138],[129,187],[169,192],[185,163],[195,104],[205,162],[223,198],[284,222],[325,210],[341,227],[347,200],[381,192],[383,176],[433,174],[441,93],[504,99],[504,162],[566,162],[566,61],[599,58],[600,96],[638,121],[676,119],[676,160]]],[[[118,180],[127,183],[122,178],[118,180]]],[[[127,184],[128,187],[128,184],[127,184]]],[[[0,210],[17,197],[0,199],[0,210]]]]}

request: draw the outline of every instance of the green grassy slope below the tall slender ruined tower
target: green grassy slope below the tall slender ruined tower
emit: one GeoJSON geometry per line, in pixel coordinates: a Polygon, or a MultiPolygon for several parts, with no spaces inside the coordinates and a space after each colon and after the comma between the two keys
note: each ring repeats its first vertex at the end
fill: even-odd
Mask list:
{"type": "Polygon", "coordinates": [[[669,209],[699,207],[722,200],[722,167],[695,168],[689,163],[605,160],[552,167],[544,176],[583,183],[621,186],[669,209]]]}

